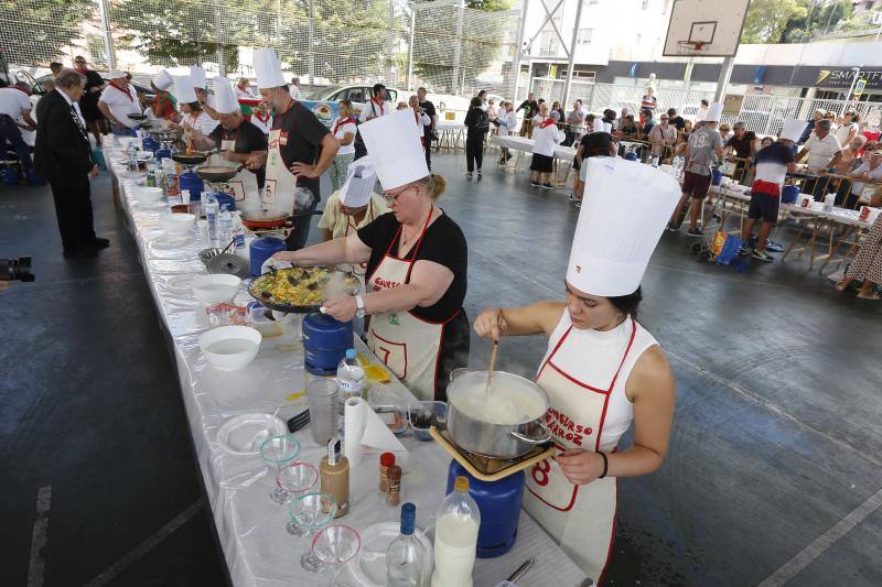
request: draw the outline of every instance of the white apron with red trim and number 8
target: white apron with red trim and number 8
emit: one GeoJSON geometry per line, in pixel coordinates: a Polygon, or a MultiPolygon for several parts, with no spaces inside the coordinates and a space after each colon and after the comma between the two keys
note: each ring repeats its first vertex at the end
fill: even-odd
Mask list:
{"type": "MultiPolygon", "coordinates": [[[[636,323],[631,320],[631,336],[622,348],[622,359],[612,381],[603,383],[605,389],[577,380],[568,373],[568,368],[573,366],[555,361],[572,328],[570,325],[542,362],[536,382],[548,393],[551,402],[546,423],[552,432],[556,447],[563,450],[578,446],[599,452],[612,390],[634,343],[636,323]]],[[[600,584],[615,537],[615,478],[605,477],[588,485],[573,485],[557,461],[546,459],[533,467],[527,475],[526,486],[528,491],[524,492],[524,508],[560,543],[570,558],[595,584],[600,584]]]]}

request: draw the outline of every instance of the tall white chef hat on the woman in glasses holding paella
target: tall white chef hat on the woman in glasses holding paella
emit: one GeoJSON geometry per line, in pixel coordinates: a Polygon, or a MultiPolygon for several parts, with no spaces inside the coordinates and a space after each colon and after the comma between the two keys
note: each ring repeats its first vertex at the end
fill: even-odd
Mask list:
{"type": "Polygon", "coordinates": [[[395,189],[429,175],[413,112],[397,110],[358,127],[384,189],[395,189]]]}

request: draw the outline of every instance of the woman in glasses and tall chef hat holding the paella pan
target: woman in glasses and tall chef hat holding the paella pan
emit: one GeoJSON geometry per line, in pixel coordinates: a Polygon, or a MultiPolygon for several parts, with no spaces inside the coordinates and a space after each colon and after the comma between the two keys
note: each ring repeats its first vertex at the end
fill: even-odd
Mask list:
{"type": "Polygon", "coordinates": [[[325,303],[338,320],[370,315],[374,354],[422,400],[443,400],[450,371],[469,359],[467,248],[435,205],[443,177],[430,174],[413,112],[358,127],[391,210],[357,232],[273,259],[295,265],[367,263],[365,295],[325,303]]]}

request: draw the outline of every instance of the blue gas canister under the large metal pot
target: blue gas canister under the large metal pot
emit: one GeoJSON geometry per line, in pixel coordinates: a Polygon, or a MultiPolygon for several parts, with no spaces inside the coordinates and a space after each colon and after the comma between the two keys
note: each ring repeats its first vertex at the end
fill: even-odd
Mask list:
{"type": "Polygon", "coordinates": [[[524,471],[517,471],[497,481],[482,481],[469,475],[469,471],[453,459],[448,468],[445,494],[453,491],[453,481],[460,475],[469,478],[469,494],[481,511],[477,557],[494,558],[504,555],[512,550],[517,540],[520,498],[524,494],[524,471]]]}

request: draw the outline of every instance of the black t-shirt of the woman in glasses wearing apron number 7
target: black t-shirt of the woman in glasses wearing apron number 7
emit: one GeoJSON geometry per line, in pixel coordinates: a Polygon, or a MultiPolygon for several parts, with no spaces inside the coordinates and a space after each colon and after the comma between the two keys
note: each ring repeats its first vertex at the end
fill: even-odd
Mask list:
{"type": "MultiPolygon", "coordinates": [[[[384,214],[369,225],[358,229],[358,239],[370,247],[370,260],[367,262],[367,275],[372,275],[379,267],[380,261],[389,254],[396,257],[400,240],[399,228],[401,224],[395,219],[394,213],[384,214]],[[395,240],[395,242],[392,242],[395,240]],[[391,247],[390,247],[391,246],[391,247]]],[[[405,259],[413,259],[415,244],[405,259]]],[[[420,318],[443,322],[462,309],[465,300],[466,270],[469,265],[469,247],[460,227],[450,216],[442,214],[426,229],[422,242],[419,243],[416,260],[433,261],[444,265],[453,272],[453,282],[448,291],[432,306],[415,307],[411,312],[420,318]]],[[[367,291],[370,292],[369,278],[366,281],[367,291]]]]}

